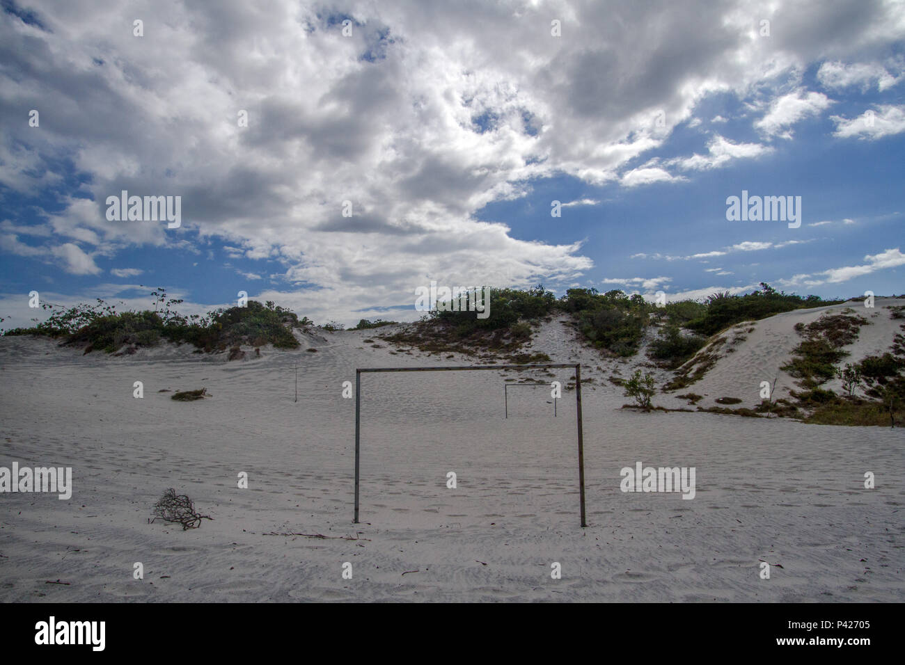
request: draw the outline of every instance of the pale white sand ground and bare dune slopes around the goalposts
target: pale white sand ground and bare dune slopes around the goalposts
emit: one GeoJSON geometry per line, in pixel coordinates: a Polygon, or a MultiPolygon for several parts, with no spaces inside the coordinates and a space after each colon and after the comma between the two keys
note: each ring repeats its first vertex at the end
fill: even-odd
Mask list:
{"type": "MultiPolygon", "coordinates": [[[[792,326],[818,316],[757,322],[692,390],[753,392],[754,404],[759,376],[797,343],[792,326]]],[[[231,363],[188,347],[82,356],[0,337],[0,466],[71,466],[74,486],[70,500],[0,494],[0,601],[905,600],[905,431],[619,410],[626,398],[606,377],[643,357],[603,360],[559,321],[534,347],[594,379],[583,390],[588,527],[574,391],[556,418],[548,390],[510,391],[503,417],[506,378],[565,386],[571,370],[363,375],[353,524],[355,400],[342,382],[357,366],[471,362],[391,354],[380,332],[305,337],[298,352],[231,363]],[[202,386],[212,396],[194,403],[158,392],[202,386]],[[695,498],[622,492],[620,470],[637,461],[695,467],[695,498]],[[249,489],[237,487],[242,471],[249,489]],[[168,487],[213,521],[148,524],[168,487]],[[47,584],[57,580],[69,584],[47,584]]]]}

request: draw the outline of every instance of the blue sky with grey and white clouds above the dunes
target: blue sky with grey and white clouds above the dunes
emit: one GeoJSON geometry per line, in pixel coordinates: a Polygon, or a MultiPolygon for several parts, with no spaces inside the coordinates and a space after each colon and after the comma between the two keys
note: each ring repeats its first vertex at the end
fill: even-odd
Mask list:
{"type": "Polygon", "coordinates": [[[905,291],[900,2],[0,6],[7,328],[31,290],[347,324],[431,280],[905,291]],[[800,226],[729,221],[743,191],[800,226]]]}

